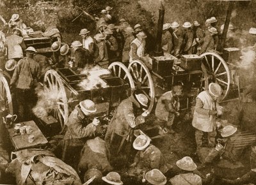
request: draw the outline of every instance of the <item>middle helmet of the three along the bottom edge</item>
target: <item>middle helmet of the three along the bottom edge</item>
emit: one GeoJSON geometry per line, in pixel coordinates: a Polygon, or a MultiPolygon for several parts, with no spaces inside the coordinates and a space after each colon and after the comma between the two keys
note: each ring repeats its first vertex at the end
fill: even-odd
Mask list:
{"type": "Polygon", "coordinates": [[[153,169],[148,171],[145,175],[145,179],[150,184],[154,184],[154,185],[164,185],[167,182],[164,174],[158,169],[153,169]]]}

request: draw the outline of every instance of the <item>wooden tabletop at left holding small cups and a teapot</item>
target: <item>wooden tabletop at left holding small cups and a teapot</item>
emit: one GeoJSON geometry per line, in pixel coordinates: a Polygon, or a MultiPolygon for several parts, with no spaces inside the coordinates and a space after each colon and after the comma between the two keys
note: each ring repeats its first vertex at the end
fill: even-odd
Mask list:
{"type": "Polygon", "coordinates": [[[35,140],[32,143],[28,142],[28,134],[15,135],[15,129],[10,128],[8,132],[10,134],[10,139],[12,141],[15,150],[19,151],[21,149],[36,148],[48,143],[47,139],[44,137],[43,133],[40,131],[38,126],[36,126],[34,121],[20,122],[21,126],[31,126],[33,129],[33,135],[35,140]]]}

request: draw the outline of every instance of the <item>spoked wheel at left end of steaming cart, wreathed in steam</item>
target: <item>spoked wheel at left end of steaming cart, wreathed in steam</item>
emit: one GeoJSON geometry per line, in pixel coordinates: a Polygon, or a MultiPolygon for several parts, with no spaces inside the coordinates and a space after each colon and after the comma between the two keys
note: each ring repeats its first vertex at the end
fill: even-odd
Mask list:
{"type": "Polygon", "coordinates": [[[63,82],[56,71],[49,70],[45,73],[44,91],[49,93],[52,101],[54,101],[51,114],[60,122],[61,128],[63,128],[68,121],[68,101],[63,82]]]}

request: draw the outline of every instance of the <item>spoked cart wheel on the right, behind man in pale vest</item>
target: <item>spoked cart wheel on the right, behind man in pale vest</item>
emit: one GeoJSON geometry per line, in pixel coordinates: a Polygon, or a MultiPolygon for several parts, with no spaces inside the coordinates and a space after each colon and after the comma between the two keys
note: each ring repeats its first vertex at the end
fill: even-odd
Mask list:
{"type": "Polygon", "coordinates": [[[211,82],[219,84],[223,89],[224,100],[230,91],[230,71],[224,59],[213,52],[202,54],[202,71],[204,72],[204,88],[208,89],[211,82]]]}

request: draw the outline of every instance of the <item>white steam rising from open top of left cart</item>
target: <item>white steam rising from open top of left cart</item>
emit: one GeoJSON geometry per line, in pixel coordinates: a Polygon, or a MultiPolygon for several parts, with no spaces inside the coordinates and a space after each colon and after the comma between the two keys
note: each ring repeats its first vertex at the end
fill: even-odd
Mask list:
{"type": "Polygon", "coordinates": [[[109,85],[100,78],[100,76],[108,75],[109,73],[109,70],[101,68],[100,66],[86,66],[86,68],[81,71],[81,74],[87,75],[87,77],[77,85],[84,90],[109,87],[109,85]]]}

